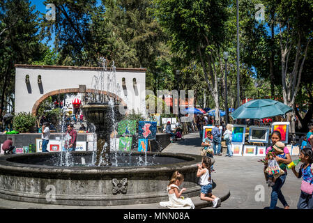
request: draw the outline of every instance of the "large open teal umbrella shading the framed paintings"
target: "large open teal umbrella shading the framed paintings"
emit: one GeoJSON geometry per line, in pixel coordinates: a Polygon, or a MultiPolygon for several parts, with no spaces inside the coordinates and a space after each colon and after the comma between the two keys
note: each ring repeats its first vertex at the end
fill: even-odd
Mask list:
{"type": "Polygon", "coordinates": [[[238,107],[231,117],[238,118],[268,118],[273,116],[282,116],[287,112],[291,112],[292,108],[284,105],[282,102],[277,102],[271,99],[257,99],[250,100],[249,102],[238,107]]]}

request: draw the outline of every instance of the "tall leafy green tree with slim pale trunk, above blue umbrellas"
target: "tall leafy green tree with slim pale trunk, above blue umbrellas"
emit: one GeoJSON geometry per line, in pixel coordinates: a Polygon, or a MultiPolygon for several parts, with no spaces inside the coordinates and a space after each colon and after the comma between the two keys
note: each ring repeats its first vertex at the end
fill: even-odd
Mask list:
{"type": "Polygon", "coordinates": [[[169,34],[171,49],[199,61],[208,90],[215,102],[215,121],[220,123],[217,66],[225,43],[229,1],[155,0],[155,16],[169,34]]]}

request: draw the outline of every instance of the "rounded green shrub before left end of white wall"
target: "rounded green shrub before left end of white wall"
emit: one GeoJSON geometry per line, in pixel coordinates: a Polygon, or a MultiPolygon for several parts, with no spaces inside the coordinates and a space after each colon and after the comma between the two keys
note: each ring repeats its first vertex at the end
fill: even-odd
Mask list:
{"type": "Polygon", "coordinates": [[[36,125],[36,116],[33,114],[20,112],[15,114],[13,118],[13,129],[18,132],[33,132],[36,125]]]}

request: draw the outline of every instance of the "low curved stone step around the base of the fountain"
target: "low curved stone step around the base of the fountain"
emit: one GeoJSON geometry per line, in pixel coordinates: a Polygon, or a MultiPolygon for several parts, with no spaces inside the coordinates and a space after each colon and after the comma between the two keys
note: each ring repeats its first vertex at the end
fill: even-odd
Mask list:
{"type": "MultiPolygon", "coordinates": [[[[216,183],[216,180],[213,180],[216,183]]],[[[226,185],[216,183],[216,187],[213,189],[213,195],[220,197],[221,201],[225,201],[230,196],[230,190],[226,185]]],[[[201,201],[200,197],[192,197],[192,202],[196,209],[205,208],[212,206],[211,202],[201,201]]],[[[125,206],[63,206],[54,204],[44,204],[44,203],[29,203],[29,202],[19,202],[10,201],[5,199],[0,199],[1,209],[169,209],[160,206],[159,203],[142,203],[134,205],[125,206]]]]}

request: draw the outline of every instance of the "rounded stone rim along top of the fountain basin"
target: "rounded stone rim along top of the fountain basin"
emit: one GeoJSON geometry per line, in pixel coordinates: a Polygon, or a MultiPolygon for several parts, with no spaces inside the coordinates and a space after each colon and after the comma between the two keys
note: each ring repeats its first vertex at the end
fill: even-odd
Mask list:
{"type": "MultiPolygon", "coordinates": [[[[74,152],[76,155],[84,155],[92,153],[92,151],[74,152]]],[[[142,154],[139,152],[132,152],[133,154],[142,154]]],[[[55,178],[99,178],[101,176],[123,175],[123,174],[153,174],[159,171],[174,171],[174,170],[188,170],[190,167],[197,168],[197,164],[201,162],[200,155],[184,154],[184,153],[147,153],[147,155],[160,155],[167,157],[176,157],[186,160],[186,162],[178,162],[174,164],[160,164],[147,167],[55,167],[38,164],[24,164],[19,162],[12,162],[10,159],[19,157],[31,156],[47,156],[56,155],[56,153],[30,153],[30,154],[15,154],[0,157],[0,174],[15,174],[15,175],[36,175],[43,177],[55,178]],[[189,160],[189,161],[188,161],[189,160]]],[[[213,161],[214,162],[214,161],[213,161]]]]}

